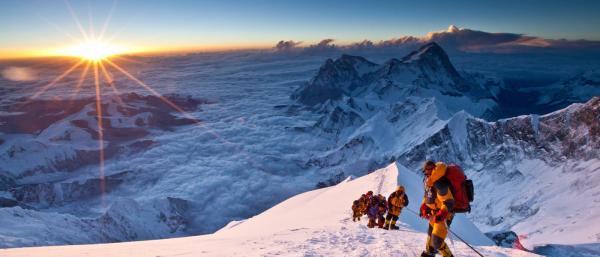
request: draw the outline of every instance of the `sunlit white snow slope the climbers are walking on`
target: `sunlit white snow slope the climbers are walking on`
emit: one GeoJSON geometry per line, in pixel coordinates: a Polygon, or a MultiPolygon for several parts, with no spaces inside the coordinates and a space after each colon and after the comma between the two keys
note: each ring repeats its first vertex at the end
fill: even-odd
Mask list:
{"type": "MultiPolygon", "coordinates": [[[[365,219],[351,221],[350,205],[367,190],[388,195],[402,183],[416,209],[422,188],[420,178],[392,163],[356,180],[294,196],[243,221],[235,221],[211,235],[115,244],[51,246],[0,250],[17,256],[418,256],[426,238],[426,222],[408,211],[401,215],[399,231],[368,229],[365,219]]],[[[463,216],[453,229],[485,256],[537,256],[515,249],[489,246],[492,242],[463,216]]],[[[456,256],[476,256],[456,239],[450,246],[456,256]]]]}

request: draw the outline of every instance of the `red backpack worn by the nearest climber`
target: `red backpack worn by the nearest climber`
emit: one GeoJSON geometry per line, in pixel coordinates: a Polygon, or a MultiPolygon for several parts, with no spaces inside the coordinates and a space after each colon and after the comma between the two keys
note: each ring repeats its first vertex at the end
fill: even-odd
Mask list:
{"type": "Polygon", "coordinates": [[[471,204],[474,197],[473,181],[467,179],[462,168],[456,164],[450,164],[446,168],[446,179],[450,182],[450,191],[454,196],[455,213],[471,212],[471,204]]]}

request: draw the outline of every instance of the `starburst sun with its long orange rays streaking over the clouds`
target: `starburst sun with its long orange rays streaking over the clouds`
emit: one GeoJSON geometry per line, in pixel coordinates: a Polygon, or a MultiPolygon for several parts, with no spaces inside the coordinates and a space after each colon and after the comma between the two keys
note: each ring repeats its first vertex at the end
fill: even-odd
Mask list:
{"type": "MultiPolygon", "coordinates": [[[[44,92],[48,91],[52,87],[59,84],[63,79],[71,77],[75,77],[72,74],[75,74],[76,71],[80,71],[81,73],[73,79],[73,92],[68,94],[72,100],[77,99],[79,94],[88,86],[93,86],[93,88],[89,88],[88,91],[94,92],[94,101],[95,101],[95,120],[96,124],[89,124],[90,127],[95,127],[98,131],[96,137],[98,140],[98,178],[99,178],[99,188],[100,188],[100,203],[103,208],[106,208],[106,181],[105,181],[105,158],[106,152],[105,147],[108,142],[106,140],[105,134],[105,125],[110,125],[110,117],[105,116],[105,112],[103,108],[107,108],[107,105],[104,104],[103,107],[103,96],[106,96],[107,90],[112,92],[111,100],[116,101],[116,103],[121,107],[127,107],[127,104],[121,98],[121,92],[118,89],[119,85],[125,83],[126,81],[133,82],[134,85],[139,86],[140,89],[145,90],[151,95],[154,95],[166,105],[171,107],[174,111],[178,112],[183,118],[192,121],[193,124],[197,127],[203,128],[204,132],[210,134],[214,139],[218,142],[232,146],[233,151],[237,153],[241,153],[241,157],[248,162],[251,167],[254,167],[259,170],[263,170],[263,167],[259,165],[244,149],[244,146],[230,142],[228,139],[222,137],[217,132],[213,131],[210,127],[206,126],[206,124],[202,123],[198,118],[194,117],[190,113],[184,110],[184,108],[178,106],[175,102],[171,101],[169,98],[163,96],[160,92],[152,88],[150,85],[145,83],[142,79],[136,77],[132,74],[132,72],[127,70],[129,65],[140,65],[144,64],[144,62],[140,62],[134,58],[128,58],[125,56],[121,56],[120,54],[126,53],[123,49],[118,48],[115,45],[112,45],[108,42],[103,41],[105,38],[105,33],[107,31],[108,24],[110,23],[110,17],[112,16],[112,12],[114,10],[114,6],[111,9],[110,13],[107,16],[106,21],[103,24],[101,32],[99,34],[95,34],[92,32],[93,26],[90,26],[90,33],[84,30],[84,27],[79,22],[79,18],[69,5],[68,1],[65,2],[71,16],[77,25],[79,32],[81,33],[82,40],[80,42],[82,45],[77,46],[76,48],[72,48],[67,51],[70,54],[65,54],[71,57],[79,58],[74,64],[71,66],[67,66],[68,68],[58,75],[56,78],[50,81],[50,83],[46,85],[40,86],[39,90],[35,92],[28,100],[26,100],[23,105],[30,103],[36,98],[40,97],[44,92]],[[88,42],[88,43],[85,43],[88,42]],[[104,42],[104,43],[103,43],[104,42]],[[127,63],[128,65],[124,65],[123,63],[127,63]],[[90,83],[88,80],[91,78],[93,83],[90,83]],[[96,125],[96,126],[94,126],[96,125]]],[[[91,22],[91,19],[90,19],[91,22]]],[[[64,30],[60,30],[64,31],[64,30]]],[[[114,38],[112,35],[110,38],[114,38]]],[[[135,74],[135,73],[134,73],[135,74]]],[[[69,82],[70,83],[70,82],[69,82]]],[[[106,97],[105,97],[106,98],[106,97]]],[[[128,108],[122,108],[123,110],[127,110],[128,108]]]]}

